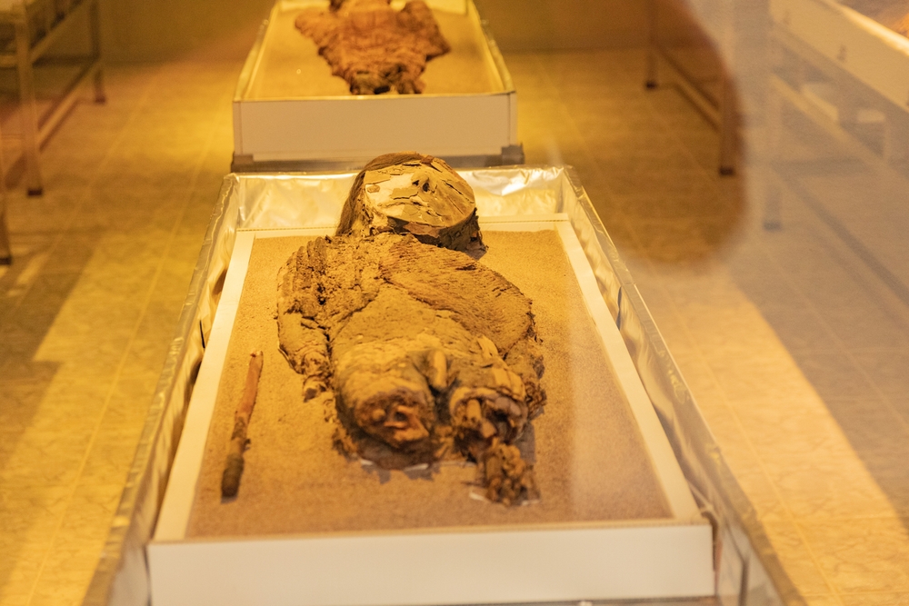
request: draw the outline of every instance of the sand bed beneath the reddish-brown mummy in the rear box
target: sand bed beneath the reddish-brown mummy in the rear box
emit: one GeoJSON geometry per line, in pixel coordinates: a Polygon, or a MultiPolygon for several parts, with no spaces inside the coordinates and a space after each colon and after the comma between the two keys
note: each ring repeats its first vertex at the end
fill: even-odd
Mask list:
{"type": "MultiPolygon", "coordinates": [[[[344,79],[332,75],[313,41],[294,26],[299,13],[299,8],[284,9],[269,24],[261,63],[246,99],[350,96],[344,79]]],[[[501,80],[487,60],[485,39],[474,18],[445,11],[433,14],[452,50],[426,64],[422,76],[424,94],[503,92],[501,80]]]]}

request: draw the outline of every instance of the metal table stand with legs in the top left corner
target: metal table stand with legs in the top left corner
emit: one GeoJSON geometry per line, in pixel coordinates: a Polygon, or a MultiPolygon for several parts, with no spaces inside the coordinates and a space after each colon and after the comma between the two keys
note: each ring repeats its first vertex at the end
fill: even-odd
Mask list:
{"type": "MultiPolygon", "coordinates": [[[[19,116],[22,122],[25,185],[29,195],[44,192],[39,150],[75,104],[77,94],[90,78],[94,80],[95,102],[104,103],[104,76],[101,67],[101,25],[98,0],[35,0],[0,12],[0,23],[13,26],[15,53],[0,54],[0,68],[14,68],[19,79],[19,116]],[[56,104],[44,116],[38,115],[35,101],[35,63],[41,59],[65,29],[87,13],[91,55],[75,57],[84,65],[56,104]]],[[[67,62],[70,60],[67,60],[67,62]]]]}

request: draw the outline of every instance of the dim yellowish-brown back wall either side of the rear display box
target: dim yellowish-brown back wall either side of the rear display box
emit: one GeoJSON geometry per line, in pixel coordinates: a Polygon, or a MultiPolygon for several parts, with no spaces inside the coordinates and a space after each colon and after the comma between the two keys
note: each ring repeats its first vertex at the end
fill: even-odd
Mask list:
{"type": "MultiPolygon", "coordinates": [[[[242,58],[275,0],[102,0],[111,62],[180,55],[242,58]]],[[[504,50],[644,43],[645,3],[628,0],[476,0],[504,50]]]]}

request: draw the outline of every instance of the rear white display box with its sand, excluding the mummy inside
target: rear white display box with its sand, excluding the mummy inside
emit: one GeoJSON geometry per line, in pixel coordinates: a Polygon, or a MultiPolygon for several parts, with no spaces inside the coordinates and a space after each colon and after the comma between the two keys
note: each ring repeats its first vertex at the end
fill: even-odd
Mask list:
{"type": "Polygon", "coordinates": [[[428,62],[423,94],[353,95],[294,25],[306,6],[279,0],[234,97],[234,169],[358,168],[389,149],[453,165],[520,164],[517,96],[470,0],[430,0],[452,46],[428,62]]]}

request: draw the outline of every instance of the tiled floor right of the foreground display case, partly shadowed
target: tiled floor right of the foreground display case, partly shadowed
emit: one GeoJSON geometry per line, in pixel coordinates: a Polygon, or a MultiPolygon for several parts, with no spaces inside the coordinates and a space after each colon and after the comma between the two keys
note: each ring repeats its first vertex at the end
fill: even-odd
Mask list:
{"type": "MultiPolygon", "coordinates": [[[[522,132],[528,159],[558,150],[580,168],[797,589],[812,603],[906,603],[909,310],[812,200],[788,193],[784,228],[764,230],[742,180],[716,176],[704,119],[671,87],[644,92],[642,59],[509,57],[521,124],[540,126],[522,132]],[[542,94],[528,101],[528,89],[542,94]]],[[[788,136],[803,155],[830,154],[820,134],[788,136]]],[[[895,206],[876,223],[849,214],[837,204],[846,192],[853,205],[884,204],[838,176],[814,195],[849,228],[857,217],[865,242],[904,222],[895,206]]],[[[903,257],[890,260],[897,276],[903,257]]]]}

